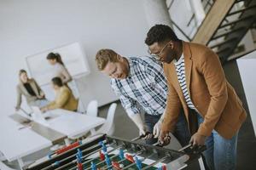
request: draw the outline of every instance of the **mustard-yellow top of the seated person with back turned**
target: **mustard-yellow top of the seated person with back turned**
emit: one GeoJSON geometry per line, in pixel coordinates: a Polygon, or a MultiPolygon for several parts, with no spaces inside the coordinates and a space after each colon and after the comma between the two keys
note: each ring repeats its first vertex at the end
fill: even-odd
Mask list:
{"type": "Polygon", "coordinates": [[[76,111],[78,109],[78,100],[74,98],[72,91],[67,86],[62,86],[55,96],[55,100],[46,106],[49,110],[65,109],[76,111]]]}

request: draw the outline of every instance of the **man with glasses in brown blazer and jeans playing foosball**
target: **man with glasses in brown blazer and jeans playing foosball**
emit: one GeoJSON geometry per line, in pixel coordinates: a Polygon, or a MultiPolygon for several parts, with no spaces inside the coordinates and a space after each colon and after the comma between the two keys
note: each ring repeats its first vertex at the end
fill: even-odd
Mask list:
{"type": "Polygon", "coordinates": [[[193,134],[190,142],[207,145],[203,153],[207,166],[235,169],[237,134],[247,114],[224,76],[218,55],[201,44],[179,40],[164,25],[150,28],[145,42],[150,54],[164,64],[168,85],[160,141],[173,132],[183,108],[193,134]]]}

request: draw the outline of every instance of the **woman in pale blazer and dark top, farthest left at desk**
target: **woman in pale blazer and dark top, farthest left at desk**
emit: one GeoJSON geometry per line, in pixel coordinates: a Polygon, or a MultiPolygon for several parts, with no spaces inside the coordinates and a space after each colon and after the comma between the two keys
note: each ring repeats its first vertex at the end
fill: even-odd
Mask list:
{"type": "Polygon", "coordinates": [[[49,104],[49,101],[45,99],[44,92],[38,86],[38,83],[32,78],[28,78],[25,70],[20,70],[19,77],[20,83],[17,85],[16,111],[20,110],[22,95],[25,96],[27,105],[41,108],[49,104]]]}

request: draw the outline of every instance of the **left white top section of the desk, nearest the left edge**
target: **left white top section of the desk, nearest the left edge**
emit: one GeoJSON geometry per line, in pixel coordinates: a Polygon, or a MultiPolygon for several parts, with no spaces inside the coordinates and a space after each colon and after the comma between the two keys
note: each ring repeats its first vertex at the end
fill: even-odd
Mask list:
{"type": "Polygon", "coordinates": [[[52,144],[30,127],[19,130],[20,127],[22,125],[10,117],[0,119],[0,150],[8,161],[43,150],[52,144]]]}

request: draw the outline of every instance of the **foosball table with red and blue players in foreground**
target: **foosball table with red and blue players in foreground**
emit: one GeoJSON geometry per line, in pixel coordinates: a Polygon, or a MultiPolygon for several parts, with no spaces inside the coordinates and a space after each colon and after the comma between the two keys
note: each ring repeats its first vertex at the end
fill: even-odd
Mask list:
{"type": "MultiPolygon", "coordinates": [[[[140,139],[139,137],[137,139],[140,139]]],[[[170,150],[156,145],[140,144],[101,135],[73,143],[35,161],[26,170],[176,170],[205,169],[201,158],[204,146],[188,145],[170,150]]]]}

